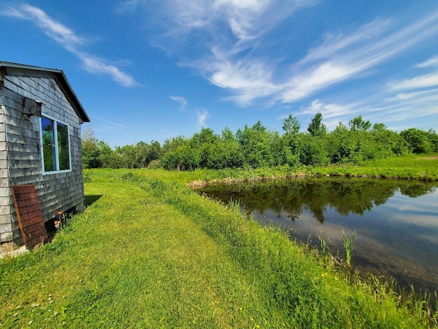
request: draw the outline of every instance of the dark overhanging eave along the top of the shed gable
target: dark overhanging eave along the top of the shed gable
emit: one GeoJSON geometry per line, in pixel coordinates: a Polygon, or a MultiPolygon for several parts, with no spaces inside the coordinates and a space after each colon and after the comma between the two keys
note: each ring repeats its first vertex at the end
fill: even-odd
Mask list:
{"type": "Polygon", "coordinates": [[[0,67],[4,67],[5,69],[11,68],[11,69],[20,69],[24,71],[53,73],[58,86],[60,86],[62,92],[64,93],[64,95],[66,95],[68,101],[75,109],[75,112],[77,113],[79,119],[81,119],[82,123],[90,122],[90,118],[88,117],[87,113],[83,109],[81,102],[79,101],[75,92],[73,91],[70,84],[68,83],[68,80],[62,70],[49,69],[46,67],[32,66],[25,64],[17,64],[12,62],[0,62],[0,67]]]}

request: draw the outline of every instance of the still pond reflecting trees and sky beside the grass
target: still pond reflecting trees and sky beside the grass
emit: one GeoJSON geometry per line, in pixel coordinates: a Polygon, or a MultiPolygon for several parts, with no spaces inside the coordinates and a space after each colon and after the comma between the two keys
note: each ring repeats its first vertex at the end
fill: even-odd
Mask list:
{"type": "Polygon", "coordinates": [[[262,225],[292,229],[292,237],[344,258],[342,231],[357,231],[352,266],[393,276],[402,287],[438,290],[438,183],[305,178],[205,186],[201,193],[231,199],[262,225]]]}

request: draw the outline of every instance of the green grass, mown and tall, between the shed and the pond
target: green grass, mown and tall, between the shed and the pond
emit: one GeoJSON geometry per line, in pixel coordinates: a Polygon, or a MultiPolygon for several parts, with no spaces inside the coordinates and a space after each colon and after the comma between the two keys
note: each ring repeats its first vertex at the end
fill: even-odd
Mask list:
{"type": "Polygon", "coordinates": [[[427,328],[186,186],[229,173],[86,171],[88,208],[39,252],[0,260],[0,328],[427,328]]]}

